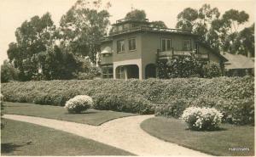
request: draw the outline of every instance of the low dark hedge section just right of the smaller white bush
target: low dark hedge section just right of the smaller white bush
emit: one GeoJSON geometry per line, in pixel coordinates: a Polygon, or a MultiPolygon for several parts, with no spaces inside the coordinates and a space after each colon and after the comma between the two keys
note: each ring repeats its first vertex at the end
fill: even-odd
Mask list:
{"type": "Polygon", "coordinates": [[[95,109],[108,109],[137,114],[153,114],[154,107],[142,95],[100,93],[93,97],[95,109]]]}

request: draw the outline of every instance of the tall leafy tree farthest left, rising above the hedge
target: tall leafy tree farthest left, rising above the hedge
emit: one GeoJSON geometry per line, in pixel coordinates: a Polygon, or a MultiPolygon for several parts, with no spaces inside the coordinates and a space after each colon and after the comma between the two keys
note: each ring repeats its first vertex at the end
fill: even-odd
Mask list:
{"type": "Polygon", "coordinates": [[[16,41],[9,44],[7,51],[10,62],[20,70],[21,81],[31,80],[38,73],[38,63],[33,59],[54,42],[55,25],[49,13],[41,18],[33,16],[15,31],[16,41]]]}

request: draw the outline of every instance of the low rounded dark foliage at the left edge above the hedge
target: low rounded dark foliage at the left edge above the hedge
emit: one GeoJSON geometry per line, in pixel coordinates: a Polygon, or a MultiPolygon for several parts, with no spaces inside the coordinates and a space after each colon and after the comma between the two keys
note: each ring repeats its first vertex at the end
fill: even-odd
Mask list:
{"type": "Polygon", "coordinates": [[[1,65],[1,82],[17,81],[19,79],[20,70],[17,70],[15,66],[9,63],[8,60],[4,60],[1,65]]]}

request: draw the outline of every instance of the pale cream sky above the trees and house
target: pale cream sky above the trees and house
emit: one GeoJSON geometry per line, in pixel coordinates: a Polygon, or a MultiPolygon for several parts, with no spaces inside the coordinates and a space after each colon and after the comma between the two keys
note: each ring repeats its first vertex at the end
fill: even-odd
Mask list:
{"type": "MultiPolygon", "coordinates": [[[[177,14],[184,8],[201,8],[204,3],[209,3],[212,8],[217,7],[221,14],[230,8],[244,10],[250,18],[245,26],[252,25],[255,21],[255,0],[102,0],[110,2],[108,8],[111,14],[110,21],[123,19],[131,8],[143,9],[149,21],[162,20],[169,28],[175,28],[177,14]]],[[[42,16],[49,12],[55,25],[59,24],[61,16],[73,6],[76,0],[1,0],[0,1],[0,64],[8,59],[7,50],[10,42],[15,42],[15,30],[25,20],[33,16],[42,16]]]]}

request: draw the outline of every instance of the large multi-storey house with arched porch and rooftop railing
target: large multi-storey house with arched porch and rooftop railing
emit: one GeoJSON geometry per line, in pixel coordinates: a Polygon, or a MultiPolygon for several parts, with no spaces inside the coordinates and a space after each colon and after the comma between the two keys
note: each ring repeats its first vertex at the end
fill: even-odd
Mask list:
{"type": "Polygon", "coordinates": [[[151,27],[148,19],[117,20],[100,42],[102,78],[157,77],[157,61],[178,56],[194,55],[201,61],[222,66],[223,56],[197,42],[197,37],[190,31],[151,27]]]}

